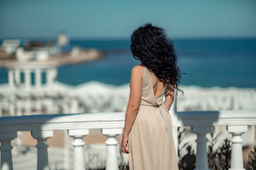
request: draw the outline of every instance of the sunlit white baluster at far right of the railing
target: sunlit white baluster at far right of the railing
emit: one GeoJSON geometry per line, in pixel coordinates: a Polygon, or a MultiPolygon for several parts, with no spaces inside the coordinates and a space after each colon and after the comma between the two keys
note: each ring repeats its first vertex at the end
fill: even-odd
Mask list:
{"type": "Polygon", "coordinates": [[[232,134],[231,142],[231,166],[229,170],[245,170],[243,167],[242,134],[247,131],[247,125],[228,126],[227,130],[232,134]]]}

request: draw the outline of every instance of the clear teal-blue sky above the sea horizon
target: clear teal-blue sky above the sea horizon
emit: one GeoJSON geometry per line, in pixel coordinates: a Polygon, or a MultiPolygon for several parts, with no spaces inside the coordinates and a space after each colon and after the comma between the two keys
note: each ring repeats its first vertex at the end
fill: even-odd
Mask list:
{"type": "Polygon", "coordinates": [[[0,0],[0,39],[129,38],[147,22],[174,38],[255,38],[256,0],[0,0]]]}

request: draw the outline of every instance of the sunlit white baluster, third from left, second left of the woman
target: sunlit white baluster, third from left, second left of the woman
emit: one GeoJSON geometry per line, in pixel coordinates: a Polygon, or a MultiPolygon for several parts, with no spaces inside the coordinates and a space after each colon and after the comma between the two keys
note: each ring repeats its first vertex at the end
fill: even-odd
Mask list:
{"type": "Polygon", "coordinates": [[[84,141],[83,137],[89,134],[89,129],[83,130],[68,130],[68,135],[73,137],[74,141],[72,146],[74,147],[74,161],[73,170],[85,170],[84,162],[84,141]]]}

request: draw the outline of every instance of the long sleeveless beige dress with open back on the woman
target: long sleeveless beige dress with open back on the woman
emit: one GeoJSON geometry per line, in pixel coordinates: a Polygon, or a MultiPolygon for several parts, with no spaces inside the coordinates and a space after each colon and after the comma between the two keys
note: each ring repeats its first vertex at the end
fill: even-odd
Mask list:
{"type": "Polygon", "coordinates": [[[163,103],[166,87],[155,98],[151,74],[143,67],[140,106],[128,138],[130,170],[178,170],[172,119],[163,103]]]}

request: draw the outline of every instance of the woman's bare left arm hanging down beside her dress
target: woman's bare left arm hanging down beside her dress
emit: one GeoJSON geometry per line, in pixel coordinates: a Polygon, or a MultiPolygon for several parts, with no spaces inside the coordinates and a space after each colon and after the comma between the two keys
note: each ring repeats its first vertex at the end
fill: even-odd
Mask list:
{"type": "Polygon", "coordinates": [[[123,137],[121,142],[121,151],[123,153],[130,153],[126,146],[128,141],[128,135],[132,129],[133,123],[138,114],[141,93],[142,93],[142,77],[143,77],[143,67],[135,66],[131,73],[131,87],[130,87],[130,97],[125,115],[125,124],[123,130],[123,137]]]}

